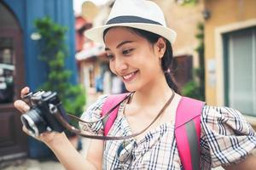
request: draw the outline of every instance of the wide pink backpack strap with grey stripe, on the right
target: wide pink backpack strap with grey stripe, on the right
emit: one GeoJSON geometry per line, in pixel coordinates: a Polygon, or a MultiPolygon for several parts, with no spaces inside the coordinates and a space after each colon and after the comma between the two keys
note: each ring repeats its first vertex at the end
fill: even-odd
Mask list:
{"type": "Polygon", "coordinates": [[[182,97],[176,112],[175,138],[185,170],[200,169],[201,111],[204,102],[182,97]]]}

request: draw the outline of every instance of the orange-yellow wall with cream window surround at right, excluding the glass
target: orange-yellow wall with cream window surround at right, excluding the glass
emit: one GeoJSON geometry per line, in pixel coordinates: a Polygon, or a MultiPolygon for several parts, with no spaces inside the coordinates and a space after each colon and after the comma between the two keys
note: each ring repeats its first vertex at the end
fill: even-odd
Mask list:
{"type": "Polygon", "coordinates": [[[205,22],[206,99],[224,105],[223,45],[221,34],[256,26],[255,0],[205,0],[210,18],[205,22]]]}

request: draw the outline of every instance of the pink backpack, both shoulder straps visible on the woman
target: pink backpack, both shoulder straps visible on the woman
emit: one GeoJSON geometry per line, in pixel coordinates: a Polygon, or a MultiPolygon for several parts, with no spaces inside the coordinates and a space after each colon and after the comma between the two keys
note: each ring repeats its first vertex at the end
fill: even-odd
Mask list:
{"type": "MultiPolygon", "coordinates": [[[[102,116],[114,105],[117,105],[127,94],[109,95],[102,106],[102,116]]],[[[196,99],[182,97],[176,112],[175,138],[178,154],[185,170],[200,169],[200,135],[201,135],[201,111],[204,102],[196,99]]],[[[118,114],[119,107],[115,108],[104,122],[104,135],[108,135],[109,129],[118,114]]]]}

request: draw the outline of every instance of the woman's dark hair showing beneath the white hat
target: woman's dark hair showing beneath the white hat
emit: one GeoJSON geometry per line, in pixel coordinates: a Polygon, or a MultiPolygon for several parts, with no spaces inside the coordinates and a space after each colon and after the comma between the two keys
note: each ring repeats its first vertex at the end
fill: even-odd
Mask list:
{"type": "MultiPolygon", "coordinates": [[[[103,32],[103,39],[109,29],[110,28],[106,29],[103,32]]],[[[137,33],[137,35],[147,39],[148,42],[150,42],[151,44],[154,44],[155,42],[157,42],[158,39],[161,37],[160,35],[150,32],[150,31],[144,31],[144,30],[140,30],[140,29],[132,28],[132,27],[129,27],[129,29],[131,29],[131,31],[137,33]]],[[[171,45],[171,42],[166,40],[166,52],[161,60],[161,68],[165,74],[166,82],[167,82],[168,86],[170,88],[172,88],[177,94],[180,94],[180,91],[177,88],[177,85],[174,81],[174,77],[172,76],[172,60],[173,60],[172,45],[171,45]]]]}

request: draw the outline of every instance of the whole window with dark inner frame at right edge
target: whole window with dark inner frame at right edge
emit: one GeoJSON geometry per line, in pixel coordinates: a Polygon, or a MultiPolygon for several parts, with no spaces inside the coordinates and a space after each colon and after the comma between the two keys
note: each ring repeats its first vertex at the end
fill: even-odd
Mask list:
{"type": "Polygon", "coordinates": [[[224,35],[225,104],[256,116],[256,27],[224,35]]]}

